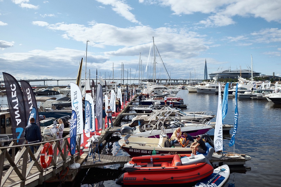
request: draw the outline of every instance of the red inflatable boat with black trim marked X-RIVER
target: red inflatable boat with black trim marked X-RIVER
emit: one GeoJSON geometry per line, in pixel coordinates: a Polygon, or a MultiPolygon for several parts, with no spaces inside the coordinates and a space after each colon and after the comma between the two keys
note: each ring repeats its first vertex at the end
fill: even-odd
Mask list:
{"type": "Polygon", "coordinates": [[[201,180],[213,173],[213,166],[202,154],[152,155],[133,157],[124,165],[119,185],[181,184],[201,180]],[[208,162],[208,163],[207,163],[208,162]]]}

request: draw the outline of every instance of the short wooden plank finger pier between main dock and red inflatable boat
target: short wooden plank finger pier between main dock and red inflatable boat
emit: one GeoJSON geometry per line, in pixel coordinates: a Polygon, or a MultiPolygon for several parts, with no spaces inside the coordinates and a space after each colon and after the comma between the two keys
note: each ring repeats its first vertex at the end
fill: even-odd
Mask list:
{"type": "Polygon", "coordinates": [[[87,161],[81,165],[81,169],[99,167],[111,164],[126,164],[131,158],[129,156],[99,155],[95,153],[95,159],[88,157],[87,161]],[[95,161],[95,162],[94,162],[95,161]]]}

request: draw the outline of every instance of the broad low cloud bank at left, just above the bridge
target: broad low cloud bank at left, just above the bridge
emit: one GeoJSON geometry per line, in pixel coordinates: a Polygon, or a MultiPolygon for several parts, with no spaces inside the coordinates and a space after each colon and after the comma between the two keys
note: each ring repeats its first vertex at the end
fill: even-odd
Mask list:
{"type": "MultiPolygon", "coordinates": [[[[49,51],[32,50],[26,53],[2,53],[0,54],[1,70],[10,72],[11,64],[13,64],[15,67],[13,68],[13,76],[17,79],[23,79],[23,77],[26,77],[25,79],[46,78],[50,76],[55,79],[61,78],[62,75],[73,78],[77,76],[79,62],[84,53],[85,51],[58,47],[49,51]],[[40,72],[40,74],[35,75],[34,72],[40,72]],[[50,72],[52,73],[50,74],[50,72]]],[[[99,55],[95,56],[88,52],[87,60],[89,61],[89,66],[96,69],[109,59],[99,55]]]]}

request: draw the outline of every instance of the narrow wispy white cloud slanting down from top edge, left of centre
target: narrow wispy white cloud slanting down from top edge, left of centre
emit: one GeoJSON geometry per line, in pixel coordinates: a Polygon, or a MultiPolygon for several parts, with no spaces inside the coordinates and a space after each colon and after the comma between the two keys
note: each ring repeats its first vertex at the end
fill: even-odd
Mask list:
{"type": "Polygon", "coordinates": [[[135,15],[133,15],[130,10],[133,8],[129,6],[128,4],[125,4],[124,1],[120,0],[96,0],[104,5],[110,5],[112,6],[112,10],[118,13],[119,15],[123,16],[127,20],[133,22],[133,23],[139,23],[138,20],[136,20],[135,15]]]}

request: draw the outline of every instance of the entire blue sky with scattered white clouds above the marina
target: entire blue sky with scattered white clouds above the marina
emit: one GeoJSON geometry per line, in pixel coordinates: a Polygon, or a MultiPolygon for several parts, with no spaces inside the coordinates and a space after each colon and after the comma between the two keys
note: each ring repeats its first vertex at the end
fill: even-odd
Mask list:
{"type": "Polygon", "coordinates": [[[82,77],[152,78],[154,37],[156,78],[203,79],[205,60],[208,73],[247,70],[251,55],[253,71],[281,76],[280,23],[281,0],[0,0],[0,69],[75,79],[83,58],[82,77]]]}

